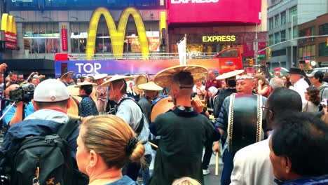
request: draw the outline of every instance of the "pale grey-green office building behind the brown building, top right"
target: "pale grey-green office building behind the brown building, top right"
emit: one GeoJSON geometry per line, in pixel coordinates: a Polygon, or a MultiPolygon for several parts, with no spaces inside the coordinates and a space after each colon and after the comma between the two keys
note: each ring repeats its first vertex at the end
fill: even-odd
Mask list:
{"type": "Polygon", "coordinates": [[[328,12],[328,2],[321,0],[268,1],[268,61],[271,68],[296,66],[298,60],[298,25],[328,12]],[[292,41],[292,39],[294,39],[292,41]]]}

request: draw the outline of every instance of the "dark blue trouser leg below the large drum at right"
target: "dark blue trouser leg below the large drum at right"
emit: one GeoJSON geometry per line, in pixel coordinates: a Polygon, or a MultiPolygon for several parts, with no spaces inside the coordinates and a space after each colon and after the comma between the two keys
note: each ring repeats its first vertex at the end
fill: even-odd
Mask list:
{"type": "Polygon", "coordinates": [[[233,171],[233,153],[227,149],[224,151],[223,158],[224,169],[221,176],[221,185],[228,185],[231,183],[231,173],[233,171]]]}

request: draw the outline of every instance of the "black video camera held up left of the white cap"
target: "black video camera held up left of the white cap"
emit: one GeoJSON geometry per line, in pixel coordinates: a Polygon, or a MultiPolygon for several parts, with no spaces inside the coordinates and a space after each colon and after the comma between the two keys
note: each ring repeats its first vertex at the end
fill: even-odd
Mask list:
{"type": "Polygon", "coordinates": [[[31,102],[34,95],[35,85],[27,83],[25,85],[16,88],[15,90],[9,91],[9,100],[13,102],[31,102]]]}

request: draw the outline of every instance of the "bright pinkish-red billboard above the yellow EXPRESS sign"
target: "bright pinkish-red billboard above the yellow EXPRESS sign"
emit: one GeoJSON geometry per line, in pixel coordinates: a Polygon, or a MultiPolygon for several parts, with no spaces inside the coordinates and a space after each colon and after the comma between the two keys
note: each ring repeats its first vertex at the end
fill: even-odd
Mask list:
{"type": "Polygon", "coordinates": [[[168,22],[261,23],[261,0],[168,0],[168,22]]]}

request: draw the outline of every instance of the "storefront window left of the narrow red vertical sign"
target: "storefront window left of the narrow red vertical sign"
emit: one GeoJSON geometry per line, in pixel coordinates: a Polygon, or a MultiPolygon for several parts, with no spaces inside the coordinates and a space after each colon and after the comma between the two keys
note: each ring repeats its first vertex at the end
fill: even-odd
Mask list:
{"type": "Polygon", "coordinates": [[[57,22],[23,25],[24,50],[29,53],[58,53],[60,34],[57,22]]]}

